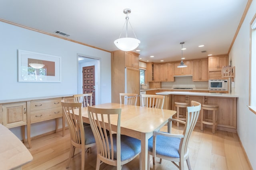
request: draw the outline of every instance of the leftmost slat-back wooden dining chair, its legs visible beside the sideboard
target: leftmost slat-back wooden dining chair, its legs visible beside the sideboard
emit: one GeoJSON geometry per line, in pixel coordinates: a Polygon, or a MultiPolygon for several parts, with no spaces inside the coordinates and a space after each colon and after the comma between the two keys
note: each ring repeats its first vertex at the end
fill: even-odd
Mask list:
{"type": "Polygon", "coordinates": [[[75,149],[80,148],[82,151],[81,169],[84,169],[85,152],[96,145],[94,135],[90,126],[84,126],[82,121],[82,103],[66,103],[61,101],[65,113],[66,122],[70,132],[70,153],[68,158],[68,168],[71,158],[74,157],[75,149]],[[75,116],[74,109],[78,109],[79,116],[75,116]]]}

